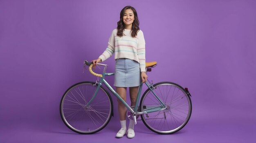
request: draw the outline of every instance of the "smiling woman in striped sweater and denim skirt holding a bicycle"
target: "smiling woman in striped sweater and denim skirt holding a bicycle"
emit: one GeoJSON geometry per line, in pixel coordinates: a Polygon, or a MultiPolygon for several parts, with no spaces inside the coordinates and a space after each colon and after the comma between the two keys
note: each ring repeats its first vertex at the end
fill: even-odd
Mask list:
{"type": "MultiPolygon", "coordinates": [[[[135,105],[140,82],[146,82],[145,40],[139,30],[139,20],[132,6],[125,6],[120,12],[117,28],[112,31],[108,48],[93,60],[93,64],[105,61],[115,52],[115,83],[117,93],[126,101],[126,89],[129,87],[131,106],[135,105]]],[[[118,100],[118,113],[121,129],[116,137],[124,137],[126,133],[126,107],[118,100]]],[[[127,137],[135,137],[134,121],[130,120],[127,137]]]]}

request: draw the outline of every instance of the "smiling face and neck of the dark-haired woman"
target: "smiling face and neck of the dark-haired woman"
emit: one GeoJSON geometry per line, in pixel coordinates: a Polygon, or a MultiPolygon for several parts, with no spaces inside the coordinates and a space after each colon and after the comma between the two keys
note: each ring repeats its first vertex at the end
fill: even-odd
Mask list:
{"type": "Polygon", "coordinates": [[[124,11],[124,16],[123,16],[124,28],[132,29],[133,21],[134,21],[134,13],[132,9],[126,9],[124,11]]]}

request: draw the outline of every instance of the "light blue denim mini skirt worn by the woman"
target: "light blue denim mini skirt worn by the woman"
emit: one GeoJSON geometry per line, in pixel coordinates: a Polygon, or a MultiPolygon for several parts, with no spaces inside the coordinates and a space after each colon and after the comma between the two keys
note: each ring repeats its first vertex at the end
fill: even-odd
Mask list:
{"type": "Polygon", "coordinates": [[[139,63],[128,58],[116,59],[115,87],[137,87],[140,85],[139,63]]]}

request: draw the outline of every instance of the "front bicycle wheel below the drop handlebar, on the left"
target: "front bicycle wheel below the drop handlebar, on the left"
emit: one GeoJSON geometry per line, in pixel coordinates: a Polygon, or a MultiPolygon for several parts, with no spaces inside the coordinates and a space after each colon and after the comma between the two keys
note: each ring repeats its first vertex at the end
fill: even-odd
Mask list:
{"type": "Polygon", "coordinates": [[[102,130],[112,115],[112,99],[103,87],[89,106],[97,85],[79,82],[65,91],[60,104],[61,119],[65,125],[80,134],[93,134],[102,130]]]}

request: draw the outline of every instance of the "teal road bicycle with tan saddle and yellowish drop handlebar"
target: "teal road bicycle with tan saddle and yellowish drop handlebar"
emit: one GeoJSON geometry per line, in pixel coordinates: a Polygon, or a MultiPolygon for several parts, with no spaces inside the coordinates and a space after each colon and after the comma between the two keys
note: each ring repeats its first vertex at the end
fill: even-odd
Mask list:
{"type": "MultiPolygon", "coordinates": [[[[72,85],[61,98],[60,113],[64,124],[72,131],[80,134],[93,134],[107,126],[113,116],[113,102],[108,89],[126,106],[127,116],[137,124],[137,118],[146,127],[158,134],[173,134],[181,130],[189,121],[192,104],[188,88],[183,88],[174,82],[145,82],[148,89],[141,97],[142,83],[139,86],[135,106],[129,106],[105,80],[106,76],[115,73],[106,73],[108,65],[104,66],[103,73],[92,71],[92,62],[84,61],[83,67],[89,66],[89,72],[100,79],[96,82],[84,81],[72,85]]],[[[157,62],[146,63],[146,72],[157,65],[157,62]]]]}

